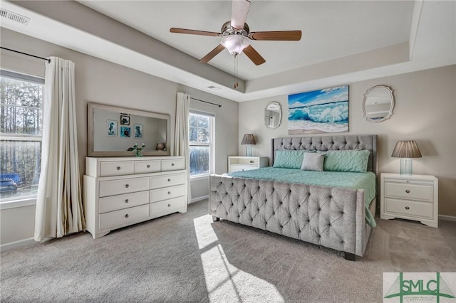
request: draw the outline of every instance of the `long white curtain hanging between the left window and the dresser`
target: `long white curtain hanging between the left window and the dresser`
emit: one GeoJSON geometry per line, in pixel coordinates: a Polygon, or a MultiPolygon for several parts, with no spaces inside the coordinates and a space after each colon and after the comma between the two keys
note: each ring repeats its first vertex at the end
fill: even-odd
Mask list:
{"type": "Polygon", "coordinates": [[[85,230],[76,132],[74,63],[46,61],[43,98],[41,174],[35,240],[61,238],[85,230]]]}

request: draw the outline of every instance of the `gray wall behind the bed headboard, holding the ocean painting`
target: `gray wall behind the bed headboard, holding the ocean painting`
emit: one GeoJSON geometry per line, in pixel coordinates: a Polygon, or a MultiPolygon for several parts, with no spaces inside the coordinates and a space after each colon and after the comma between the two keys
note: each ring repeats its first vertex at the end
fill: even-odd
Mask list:
{"type": "MultiPolygon", "coordinates": [[[[347,84],[349,133],[378,134],[380,173],[398,173],[400,160],[391,157],[395,143],[416,140],[423,158],[413,160],[413,173],[436,176],[439,213],[456,216],[456,65],[347,84]],[[372,123],[363,117],[363,94],[375,85],[394,90],[394,113],[385,122],[372,123]]],[[[280,95],[239,103],[239,138],[245,133],[255,135],[255,156],[270,156],[271,138],[293,137],[288,135],[287,102],[288,96],[280,95]],[[284,114],[277,129],[264,126],[264,107],[271,101],[280,102],[284,114]]],[[[244,155],[240,142],[238,147],[244,155]]]]}

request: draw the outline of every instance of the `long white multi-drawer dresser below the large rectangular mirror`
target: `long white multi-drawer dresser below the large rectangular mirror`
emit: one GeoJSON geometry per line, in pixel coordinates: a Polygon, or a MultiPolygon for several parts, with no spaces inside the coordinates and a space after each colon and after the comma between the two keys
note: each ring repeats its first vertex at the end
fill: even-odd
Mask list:
{"type": "Polygon", "coordinates": [[[182,156],[87,157],[86,229],[93,238],[170,213],[187,211],[182,156]]]}

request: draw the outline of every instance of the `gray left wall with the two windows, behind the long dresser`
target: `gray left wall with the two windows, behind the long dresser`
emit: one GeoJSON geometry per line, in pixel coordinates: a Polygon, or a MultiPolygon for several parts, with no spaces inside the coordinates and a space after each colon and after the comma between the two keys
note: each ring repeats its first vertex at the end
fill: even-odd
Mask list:
{"type": "MultiPolygon", "coordinates": [[[[76,77],[76,117],[78,120],[78,151],[81,174],[85,171],[87,154],[87,103],[96,102],[134,110],[160,112],[171,116],[171,139],[174,142],[175,110],[177,92],[187,92],[192,97],[222,105],[216,107],[206,103],[194,102],[190,107],[216,115],[215,171],[227,171],[227,156],[237,153],[237,112],[238,103],[207,92],[185,87],[177,83],[163,80],[137,70],[125,68],[90,55],[78,53],[68,48],[56,46],[30,36],[25,36],[5,28],[0,28],[1,46],[32,53],[41,57],[55,55],[72,60],[75,63],[76,77]]],[[[29,75],[44,75],[43,60],[1,50],[1,68],[29,75]]],[[[82,183],[82,182],[81,182],[82,183]]],[[[208,181],[197,182],[198,188],[192,192],[207,195],[208,181]],[[204,193],[205,190],[205,193],[204,193]]],[[[193,197],[196,198],[196,197],[193,197]]],[[[1,245],[33,237],[34,212],[30,206],[24,211],[2,210],[1,212],[1,245]],[[11,220],[3,220],[4,216],[11,220]],[[11,215],[11,216],[10,216],[11,215]],[[26,225],[24,231],[19,226],[26,225]],[[4,232],[8,237],[4,237],[4,232]],[[7,241],[7,242],[5,242],[7,241]]],[[[18,208],[19,210],[21,208],[18,208]]]]}

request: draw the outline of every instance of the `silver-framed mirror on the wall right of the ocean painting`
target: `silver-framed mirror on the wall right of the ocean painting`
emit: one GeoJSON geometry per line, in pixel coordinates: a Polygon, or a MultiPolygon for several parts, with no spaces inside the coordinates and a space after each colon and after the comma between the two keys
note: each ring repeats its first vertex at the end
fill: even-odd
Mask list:
{"type": "Polygon", "coordinates": [[[363,112],[366,120],[382,122],[393,115],[393,90],[385,85],[369,88],[364,94],[363,112]]]}

